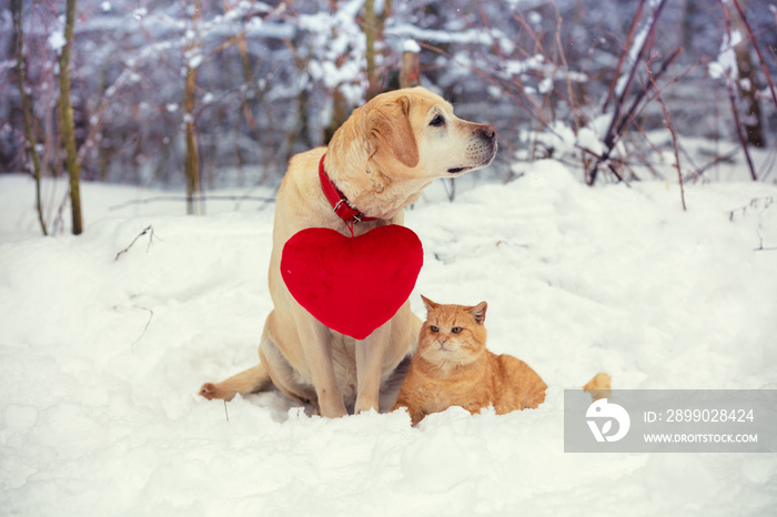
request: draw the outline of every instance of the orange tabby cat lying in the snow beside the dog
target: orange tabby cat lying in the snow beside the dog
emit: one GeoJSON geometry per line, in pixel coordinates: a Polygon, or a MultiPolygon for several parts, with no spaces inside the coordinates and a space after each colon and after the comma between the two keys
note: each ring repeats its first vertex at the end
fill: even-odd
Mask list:
{"type": "Polygon", "coordinates": [[[497,414],[537,407],[547,385],[526,363],[486,349],[487,304],[436,304],[422,296],[426,322],[396,404],[413,425],[430,413],[461,406],[475,414],[490,404],[497,414]]]}

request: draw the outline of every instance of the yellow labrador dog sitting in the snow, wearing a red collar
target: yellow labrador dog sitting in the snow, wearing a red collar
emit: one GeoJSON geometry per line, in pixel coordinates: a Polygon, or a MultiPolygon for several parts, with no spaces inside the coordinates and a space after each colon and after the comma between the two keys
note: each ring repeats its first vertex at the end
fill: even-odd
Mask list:
{"type": "Polygon", "coordinates": [[[327,148],[292,158],[276,197],[270,262],[274,310],[264,325],[260,364],[219,384],[204,384],[200,395],[229,401],[272,383],[287,396],[313,404],[323,416],[377,410],[382,386],[403,373],[397,367],[406,366],[417,343],[421,322],[410,302],[356,341],[313,317],[281,277],[283,245],[296,232],[327,227],[351,233],[323,192],[320,161],[324,156],[326,176],[350,213],[357,214],[350,221],[357,236],[381,225],[402,224],[403,207],[433,180],[484,168],[495,154],[493,126],[461,120],[441,97],[413,88],[375,97],[354,110],[327,148]]]}

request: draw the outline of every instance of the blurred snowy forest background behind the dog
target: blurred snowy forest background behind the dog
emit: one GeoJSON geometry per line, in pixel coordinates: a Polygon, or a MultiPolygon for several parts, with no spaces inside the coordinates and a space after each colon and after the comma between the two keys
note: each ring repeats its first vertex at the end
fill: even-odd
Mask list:
{"type": "Polygon", "coordinates": [[[201,191],[276,186],[353,108],[420,83],[496,126],[483,181],[546,158],[589,184],[660,178],[665,149],[686,181],[734,153],[775,181],[776,20],[767,0],[10,0],[0,173],[185,185],[198,213],[201,191]]]}

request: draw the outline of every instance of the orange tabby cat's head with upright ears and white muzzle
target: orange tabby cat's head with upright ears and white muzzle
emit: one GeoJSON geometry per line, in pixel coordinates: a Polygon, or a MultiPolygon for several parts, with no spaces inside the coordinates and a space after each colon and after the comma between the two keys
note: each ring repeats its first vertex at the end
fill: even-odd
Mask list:
{"type": "Polygon", "coordinates": [[[467,365],[485,351],[487,304],[475,306],[436,304],[424,300],[427,315],[421,328],[418,354],[438,366],[467,365]]]}

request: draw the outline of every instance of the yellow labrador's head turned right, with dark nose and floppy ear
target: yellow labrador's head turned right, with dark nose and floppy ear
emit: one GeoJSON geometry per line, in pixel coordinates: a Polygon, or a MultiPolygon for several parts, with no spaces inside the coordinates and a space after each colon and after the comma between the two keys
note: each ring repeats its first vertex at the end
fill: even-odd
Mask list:
{"type": "Polygon", "coordinates": [[[370,161],[389,178],[454,178],[496,155],[494,126],[457,118],[448,102],[423,88],[383,93],[360,111],[370,161]]]}

